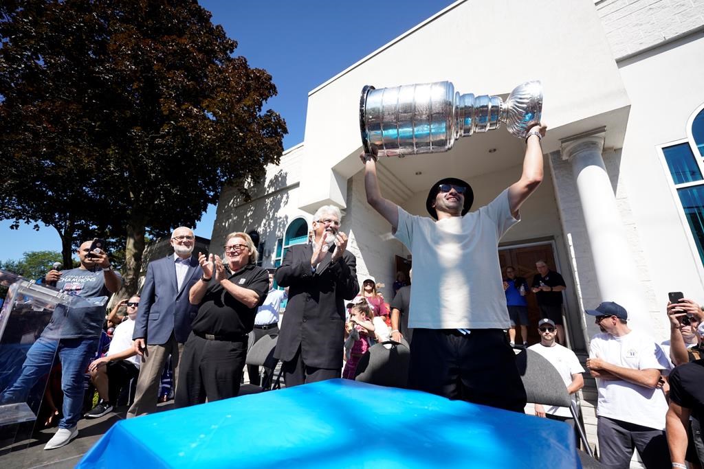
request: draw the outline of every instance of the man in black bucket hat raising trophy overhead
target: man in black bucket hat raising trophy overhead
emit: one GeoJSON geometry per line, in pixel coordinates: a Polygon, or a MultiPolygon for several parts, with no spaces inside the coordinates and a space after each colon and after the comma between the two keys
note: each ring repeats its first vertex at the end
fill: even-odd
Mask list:
{"type": "Polygon", "coordinates": [[[383,198],[376,156],[361,155],[367,202],[413,255],[411,388],[523,412],[526,394],[504,332],[510,320],[497,248],[543,179],[544,134],[539,124],[529,129],[520,179],[475,212],[467,213],[474,194],[465,181],[431,186],[425,207],[433,219],[383,198]]]}

